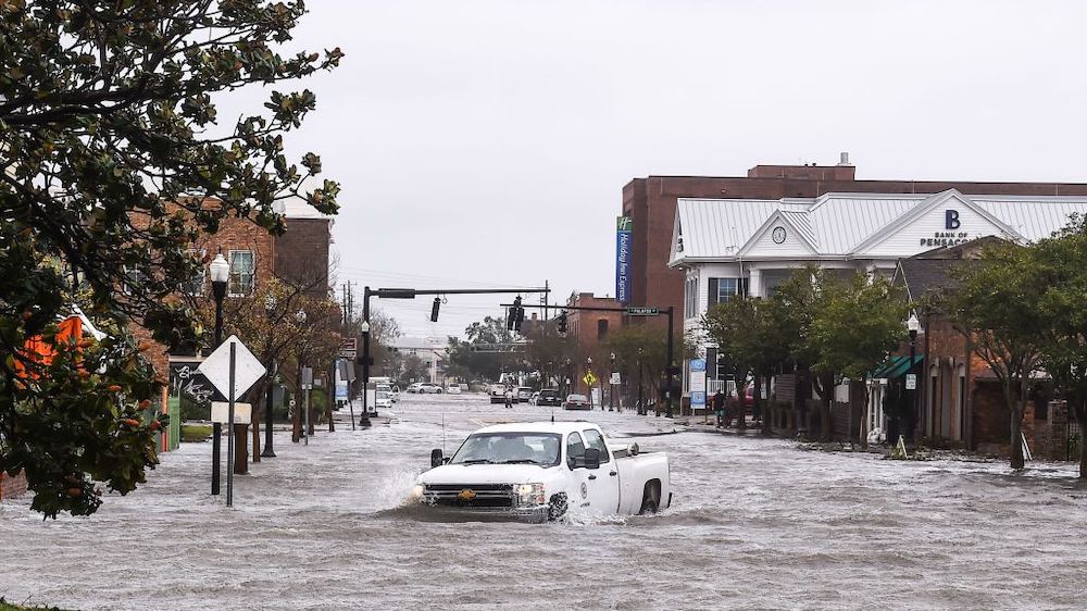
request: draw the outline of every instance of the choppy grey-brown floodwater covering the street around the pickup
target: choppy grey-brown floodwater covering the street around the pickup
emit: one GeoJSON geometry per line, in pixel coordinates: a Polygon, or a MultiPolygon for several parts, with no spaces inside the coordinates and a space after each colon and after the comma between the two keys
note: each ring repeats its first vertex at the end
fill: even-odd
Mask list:
{"type": "MultiPolygon", "coordinates": [[[[210,444],[136,492],[42,522],[0,504],[0,596],[68,609],[1082,609],[1087,487],[1072,465],[898,462],[786,440],[672,433],[667,419],[557,411],[672,459],[653,516],[439,522],[399,508],[464,436],[550,408],[403,395],[370,431],[277,434],[278,458],[211,497],[210,444]]],[[[225,449],[225,444],[224,444],[225,449]]]]}

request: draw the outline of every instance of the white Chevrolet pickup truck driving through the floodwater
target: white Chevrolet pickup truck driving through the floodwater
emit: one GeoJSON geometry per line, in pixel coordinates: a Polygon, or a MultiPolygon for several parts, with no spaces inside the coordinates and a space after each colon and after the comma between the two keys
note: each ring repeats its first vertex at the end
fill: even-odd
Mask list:
{"type": "Polygon", "coordinates": [[[412,500],[435,511],[532,522],[572,514],[652,513],[672,503],[669,457],[604,441],[588,422],[498,424],[451,458],[430,453],[412,500]]]}

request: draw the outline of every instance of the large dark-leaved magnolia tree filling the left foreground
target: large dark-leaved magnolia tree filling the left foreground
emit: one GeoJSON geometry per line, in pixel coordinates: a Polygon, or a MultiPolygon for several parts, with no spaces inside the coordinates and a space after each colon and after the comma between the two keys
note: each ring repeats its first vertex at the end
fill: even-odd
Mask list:
{"type": "Polygon", "coordinates": [[[158,387],[129,324],[167,347],[196,339],[195,312],[171,296],[200,269],[197,234],[227,215],[282,232],[274,204],[287,197],[336,212],[336,183],[303,187],[320,158],[300,169],[284,153],[312,92],[272,90],[266,113],[230,126],[212,101],[335,67],[338,49],[276,51],[303,13],[300,1],[0,3],[0,469],[26,470],[46,515],[92,513],[89,482],[124,494],[153,466],[154,435],[126,422],[158,387]],[[100,373],[55,340],[76,300],[111,336],[83,348],[100,373]],[[35,337],[70,356],[41,363],[24,349],[35,337]]]}

